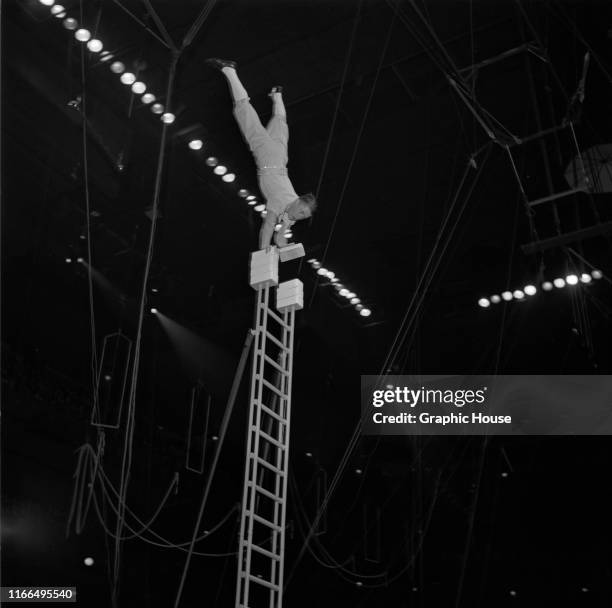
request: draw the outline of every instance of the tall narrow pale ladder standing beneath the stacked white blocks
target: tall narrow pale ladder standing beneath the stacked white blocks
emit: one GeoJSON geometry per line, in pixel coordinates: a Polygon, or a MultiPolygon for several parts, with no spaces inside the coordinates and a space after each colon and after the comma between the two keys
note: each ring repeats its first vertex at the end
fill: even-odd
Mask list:
{"type": "Polygon", "coordinates": [[[236,608],[282,606],[295,310],[270,295],[257,288],[236,608]]]}

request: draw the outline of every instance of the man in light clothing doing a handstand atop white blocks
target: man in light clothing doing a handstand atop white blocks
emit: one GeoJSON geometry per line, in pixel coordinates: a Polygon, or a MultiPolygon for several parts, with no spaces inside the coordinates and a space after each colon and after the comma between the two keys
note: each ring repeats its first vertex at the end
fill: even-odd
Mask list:
{"type": "Polygon", "coordinates": [[[259,231],[259,248],[269,247],[272,235],[274,242],[279,247],[284,247],[287,244],[285,231],[295,222],[309,218],[317,204],[312,194],[298,196],[289,181],[287,174],[289,129],[282,88],[274,87],[270,91],[273,104],[272,118],[264,128],[249,102],[246,89],[238,78],[236,63],[225,59],[208,59],[207,63],[221,70],[227,78],[234,99],[234,116],[257,165],[259,189],[266,199],[267,209],[259,231]],[[274,228],[279,222],[281,228],[275,233],[274,228]]]}

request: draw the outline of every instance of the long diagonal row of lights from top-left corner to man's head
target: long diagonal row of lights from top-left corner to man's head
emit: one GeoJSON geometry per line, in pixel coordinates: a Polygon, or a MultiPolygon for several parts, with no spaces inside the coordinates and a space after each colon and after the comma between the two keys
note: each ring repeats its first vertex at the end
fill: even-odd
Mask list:
{"type": "MultiPolygon", "coordinates": [[[[113,54],[109,51],[104,51],[104,45],[101,40],[92,38],[91,32],[88,29],[80,28],[79,23],[72,17],[67,17],[66,9],[61,4],[56,4],[55,0],[39,0],[44,6],[50,7],[51,14],[57,18],[64,19],[63,25],[67,30],[74,31],[74,37],[82,43],[87,43],[87,48],[92,53],[100,54],[100,61],[107,62],[113,59],[113,54]]],[[[114,74],[119,75],[119,80],[127,86],[130,86],[132,92],[136,95],[141,95],[141,101],[145,105],[150,105],[151,112],[153,114],[161,114],[162,122],[166,124],[172,124],[175,120],[175,115],[171,112],[165,112],[164,106],[156,102],[156,97],[153,93],[147,92],[147,85],[138,80],[136,75],[132,72],[126,71],[125,64],[121,61],[113,61],[110,64],[110,70],[114,74]]],[[[204,142],[201,139],[192,139],[189,141],[188,146],[191,150],[198,151],[204,147],[204,142]]],[[[232,183],[236,180],[235,173],[231,173],[227,170],[227,167],[219,164],[219,161],[214,156],[209,156],[206,159],[206,164],[213,170],[215,175],[221,177],[226,183],[232,183]]],[[[260,213],[262,216],[266,215],[266,206],[257,200],[257,197],[251,194],[244,188],[238,192],[239,196],[246,199],[247,203],[253,207],[253,210],[260,213]]],[[[277,230],[280,229],[280,224],[277,225],[277,230]]],[[[292,235],[291,231],[285,233],[286,238],[290,238],[292,235]]]]}

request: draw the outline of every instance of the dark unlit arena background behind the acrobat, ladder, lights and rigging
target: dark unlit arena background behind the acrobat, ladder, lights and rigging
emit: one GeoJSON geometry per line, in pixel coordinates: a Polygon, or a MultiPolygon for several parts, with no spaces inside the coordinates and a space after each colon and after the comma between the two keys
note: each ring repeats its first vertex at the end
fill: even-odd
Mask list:
{"type": "MultiPolygon", "coordinates": [[[[167,103],[171,55],[145,3],[63,4],[167,103]]],[[[152,6],[178,44],[204,3],[152,6]]],[[[247,268],[260,218],[237,193],[257,193],[255,167],[227,86],[204,62],[211,56],[238,62],[264,119],[268,91],[284,87],[291,177],[298,192],[319,195],[319,210],[296,226],[295,238],[307,259],[323,260],[372,310],[360,317],[306,263],[283,269],[305,290],[296,327],[285,605],[610,605],[607,438],[367,437],[341,460],[359,418],[361,374],[610,373],[609,237],[570,245],[588,264],[562,247],[523,254],[520,245],[536,239],[499,145],[503,129],[483,149],[487,134],[448,81],[457,68],[533,43],[533,52],[482,67],[474,78],[462,72],[479,111],[524,137],[561,123],[590,50],[586,96],[571,115],[580,149],[606,144],[610,4],[220,0],[210,7],[178,62],[177,118],[167,128],[145,290],[144,310],[156,306],[180,324],[174,336],[191,359],[146,312],[129,508],[148,521],[176,472],[179,481],[152,525],[166,540],[147,530],[123,543],[120,605],[173,605],[185,553],[151,541],[191,538],[252,322],[247,268]],[[192,134],[203,138],[202,151],[187,147],[192,134]],[[209,155],[236,173],[234,183],[212,173],[209,155]],[[525,302],[477,305],[482,296],[589,264],[604,279],[525,302]],[[209,425],[195,443],[206,451],[204,474],[185,468],[194,361],[203,370],[200,403],[211,400],[209,425]],[[298,560],[307,522],[341,463],[326,528],[298,560]]],[[[84,490],[73,505],[73,475],[85,453],[77,450],[100,440],[90,425],[91,311],[98,360],[105,337],[109,353],[118,332],[136,339],[162,123],[108,63],[87,50],[81,63],[83,45],[49,8],[7,0],[2,9],[2,584],[76,585],[81,605],[110,606],[114,544],[102,522],[114,533],[116,501],[98,476],[95,500],[84,490]],[[91,302],[78,257],[91,261],[91,302]]],[[[569,129],[513,147],[527,198],[567,189],[563,174],[576,153],[569,129]]],[[[558,225],[552,205],[537,207],[538,238],[610,220],[611,196],[558,201],[558,225]]],[[[109,369],[101,390],[115,395],[125,366],[119,359],[109,369]]],[[[246,385],[202,530],[227,519],[197,544],[199,552],[236,550],[246,385]]],[[[113,487],[125,411],[120,428],[104,433],[100,462],[113,487]]],[[[131,517],[128,523],[138,532],[131,517]]],[[[181,605],[231,605],[234,586],[233,557],[196,556],[181,605]]]]}

